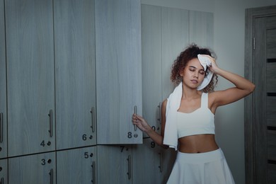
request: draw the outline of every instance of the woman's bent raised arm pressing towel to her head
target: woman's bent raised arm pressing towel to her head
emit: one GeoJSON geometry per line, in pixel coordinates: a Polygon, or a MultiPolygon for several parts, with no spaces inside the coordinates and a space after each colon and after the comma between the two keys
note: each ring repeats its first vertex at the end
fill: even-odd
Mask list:
{"type": "Polygon", "coordinates": [[[209,58],[212,61],[212,67],[210,67],[211,71],[213,71],[214,74],[224,77],[224,79],[230,81],[235,85],[234,88],[228,88],[223,91],[215,91],[209,94],[209,100],[211,100],[212,104],[211,110],[213,113],[215,112],[217,107],[240,100],[241,98],[248,96],[254,91],[255,85],[251,81],[248,81],[247,79],[237,74],[233,74],[224,69],[220,69],[219,67],[217,67],[214,59],[212,57],[209,58]]]}

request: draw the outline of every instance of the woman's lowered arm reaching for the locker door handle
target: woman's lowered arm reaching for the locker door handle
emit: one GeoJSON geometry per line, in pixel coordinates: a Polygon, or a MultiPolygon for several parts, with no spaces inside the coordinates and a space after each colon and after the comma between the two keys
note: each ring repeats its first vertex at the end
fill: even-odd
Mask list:
{"type": "Polygon", "coordinates": [[[137,125],[137,127],[149,135],[149,137],[159,146],[162,146],[163,148],[168,148],[168,146],[163,144],[163,134],[164,134],[164,128],[166,123],[166,100],[162,103],[161,108],[161,134],[158,134],[155,132],[151,126],[144,120],[144,118],[140,115],[133,114],[132,115],[132,123],[134,125],[137,125]]]}

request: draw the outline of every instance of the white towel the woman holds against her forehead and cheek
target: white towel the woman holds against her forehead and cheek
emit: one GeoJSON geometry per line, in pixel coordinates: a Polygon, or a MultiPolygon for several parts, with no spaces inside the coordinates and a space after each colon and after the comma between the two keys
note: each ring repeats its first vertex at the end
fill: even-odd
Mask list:
{"type": "MultiPolygon", "coordinates": [[[[198,60],[200,60],[200,64],[204,68],[204,71],[206,71],[207,67],[210,67],[212,65],[212,62],[209,60],[208,57],[202,56],[201,54],[197,54],[197,58],[198,58],[198,60]]],[[[202,81],[202,84],[200,84],[200,86],[197,87],[198,91],[202,90],[210,83],[210,81],[212,80],[213,74],[214,73],[209,70],[209,73],[207,74],[205,79],[202,81]]]]}

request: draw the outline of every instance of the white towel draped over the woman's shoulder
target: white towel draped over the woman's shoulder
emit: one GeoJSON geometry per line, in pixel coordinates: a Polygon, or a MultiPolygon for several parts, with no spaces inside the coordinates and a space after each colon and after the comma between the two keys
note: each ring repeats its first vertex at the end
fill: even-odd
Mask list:
{"type": "Polygon", "coordinates": [[[166,125],[163,144],[178,150],[178,130],[176,126],[176,113],[180,107],[182,98],[182,82],[176,86],[173,93],[168,97],[166,105],[166,125]]]}

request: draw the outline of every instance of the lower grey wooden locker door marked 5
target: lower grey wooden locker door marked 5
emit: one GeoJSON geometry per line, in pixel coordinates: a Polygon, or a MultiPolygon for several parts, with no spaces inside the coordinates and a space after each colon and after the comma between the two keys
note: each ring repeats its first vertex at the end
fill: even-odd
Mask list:
{"type": "Polygon", "coordinates": [[[97,183],[96,146],[57,151],[57,183],[97,183]]]}

